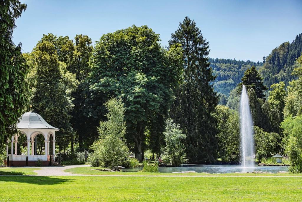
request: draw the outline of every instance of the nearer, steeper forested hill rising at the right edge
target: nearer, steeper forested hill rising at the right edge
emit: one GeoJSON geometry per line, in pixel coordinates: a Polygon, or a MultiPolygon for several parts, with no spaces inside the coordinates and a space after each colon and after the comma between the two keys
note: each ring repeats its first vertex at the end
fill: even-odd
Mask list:
{"type": "Polygon", "coordinates": [[[271,84],[284,81],[285,85],[293,80],[292,70],[297,65],[296,59],[302,52],[302,34],[296,36],[294,41],[284,42],[279,47],[274,48],[265,58],[265,63],[259,72],[264,84],[269,88],[271,84]]]}

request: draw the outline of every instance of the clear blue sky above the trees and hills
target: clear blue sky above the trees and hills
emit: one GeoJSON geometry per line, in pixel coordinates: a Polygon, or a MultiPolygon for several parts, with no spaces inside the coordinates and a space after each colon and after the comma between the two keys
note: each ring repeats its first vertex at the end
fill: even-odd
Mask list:
{"type": "Polygon", "coordinates": [[[14,42],[31,51],[43,34],[103,34],[148,25],[167,45],[185,16],[196,21],[210,43],[210,57],[262,61],[284,41],[302,33],[302,1],[36,1],[21,0],[26,11],[16,21],[14,42]]]}

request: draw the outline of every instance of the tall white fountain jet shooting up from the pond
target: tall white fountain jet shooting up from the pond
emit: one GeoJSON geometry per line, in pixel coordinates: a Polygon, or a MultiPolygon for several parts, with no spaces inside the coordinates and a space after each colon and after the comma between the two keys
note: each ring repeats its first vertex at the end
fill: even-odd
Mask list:
{"type": "Polygon", "coordinates": [[[249,108],[249,97],[245,85],[242,86],[240,99],[240,133],[241,133],[241,165],[243,167],[254,167],[254,130],[251,110],[249,108]]]}

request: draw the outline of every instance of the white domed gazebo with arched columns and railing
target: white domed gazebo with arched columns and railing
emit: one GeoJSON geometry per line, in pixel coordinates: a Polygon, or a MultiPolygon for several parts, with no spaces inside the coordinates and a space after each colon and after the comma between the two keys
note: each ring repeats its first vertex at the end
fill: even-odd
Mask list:
{"type": "MultiPolygon", "coordinates": [[[[59,129],[48,124],[39,114],[34,113],[31,110],[22,114],[21,118],[19,119],[17,128],[19,130],[19,133],[15,134],[11,138],[12,143],[10,143],[12,145],[11,153],[13,154],[8,153],[8,145],[6,146],[6,154],[9,157],[9,165],[11,165],[11,161],[13,161],[13,166],[26,166],[26,157],[28,166],[37,165],[38,160],[42,161],[42,165],[49,165],[50,155],[52,155],[53,158],[53,154],[55,154],[55,131],[59,131],[59,129]],[[22,134],[26,136],[27,155],[17,153],[18,138],[22,134]],[[45,154],[43,155],[37,154],[36,137],[39,134],[43,135],[45,141],[45,154]],[[50,144],[52,145],[52,151],[50,151],[49,149],[50,144]]],[[[22,142],[20,142],[19,144],[22,144],[22,142]]],[[[25,147],[25,145],[23,146],[25,147]]],[[[40,153],[42,153],[42,145],[40,153]]],[[[7,164],[7,162],[5,163],[7,164]]]]}

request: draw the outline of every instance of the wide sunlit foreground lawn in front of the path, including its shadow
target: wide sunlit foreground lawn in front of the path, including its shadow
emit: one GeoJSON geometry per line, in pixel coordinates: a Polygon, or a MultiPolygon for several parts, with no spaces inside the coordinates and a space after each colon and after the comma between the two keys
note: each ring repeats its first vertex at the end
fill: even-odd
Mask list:
{"type": "Polygon", "coordinates": [[[300,201],[300,177],[0,176],[0,201],[300,201]]]}

